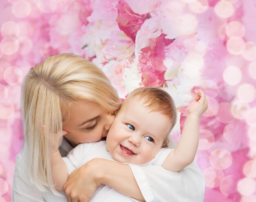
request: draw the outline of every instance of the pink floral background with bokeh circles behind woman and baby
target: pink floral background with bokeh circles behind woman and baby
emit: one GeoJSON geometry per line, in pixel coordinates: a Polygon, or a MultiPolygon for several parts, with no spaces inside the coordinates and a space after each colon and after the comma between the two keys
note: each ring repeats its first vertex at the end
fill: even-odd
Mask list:
{"type": "MultiPolygon", "coordinates": [[[[205,202],[256,201],[255,0],[1,0],[0,201],[11,201],[29,68],[69,52],[99,65],[121,98],[169,92],[178,141],[195,88],[209,99],[196,162],[205,202]]],[[[171,183],[171,182],[170,182],[171,183]]]]}

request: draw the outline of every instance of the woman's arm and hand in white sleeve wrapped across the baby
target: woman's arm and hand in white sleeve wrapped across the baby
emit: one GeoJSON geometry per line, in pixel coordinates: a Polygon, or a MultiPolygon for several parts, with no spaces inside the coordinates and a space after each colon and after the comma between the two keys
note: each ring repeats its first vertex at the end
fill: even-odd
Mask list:
{"type": "Polygon", "coordinates": [[[64,187],[69,202],[88,201],[101,184],[147,202],[202,202],[204,198],[204,178],[194,162],[180,172],[172,172],[160,166],[128,166],[92,159],[74,171],[64,187]]]}

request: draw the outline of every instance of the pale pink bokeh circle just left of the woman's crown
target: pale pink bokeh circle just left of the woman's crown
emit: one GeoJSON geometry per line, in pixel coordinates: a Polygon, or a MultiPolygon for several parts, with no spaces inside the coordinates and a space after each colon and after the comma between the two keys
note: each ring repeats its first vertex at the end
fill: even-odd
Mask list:
{"type": "Polygon", "coordinates": [[[4,80],[9,85],[16,85],[22,81],[23,74],[19,67],[11,66],[4,71],[4,80]]]}

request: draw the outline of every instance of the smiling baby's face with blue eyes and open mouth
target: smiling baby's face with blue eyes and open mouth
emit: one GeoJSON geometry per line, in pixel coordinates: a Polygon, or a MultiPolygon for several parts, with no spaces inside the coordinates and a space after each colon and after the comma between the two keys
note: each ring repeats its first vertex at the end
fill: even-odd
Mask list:
{"type": "Polygon", "coordinates": [[[170,129],[170,119],[150,112],[139,99],[130,100],[117,114],[107,136],[107,148],[118,162],[146,164],[155,157],[170,129]]]}

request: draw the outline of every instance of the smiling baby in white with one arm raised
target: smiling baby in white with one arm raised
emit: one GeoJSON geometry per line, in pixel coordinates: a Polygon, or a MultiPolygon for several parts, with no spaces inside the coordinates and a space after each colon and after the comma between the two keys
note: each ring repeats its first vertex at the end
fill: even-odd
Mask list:
{"type": "Polygon", "coordinates": [[[116,112],[106,141],[79,144],[63,158],[58,150],[54,152],[52,176],[56,190],[63,191],[69,174],[93,158],[126,164],[152,164],[169,171],[181,171],[195,158],[199,119],[208,107],[202,90],[195,93],[180,141],[175,149],[168,149],[165,147],[177,119],[173,99],[159,88],[144,87],[131,92],[116,112]],[[63,169],[64,162],[67,169],[63,169]],[[61,170],[56,169],[60,167],[61,170]]]}

